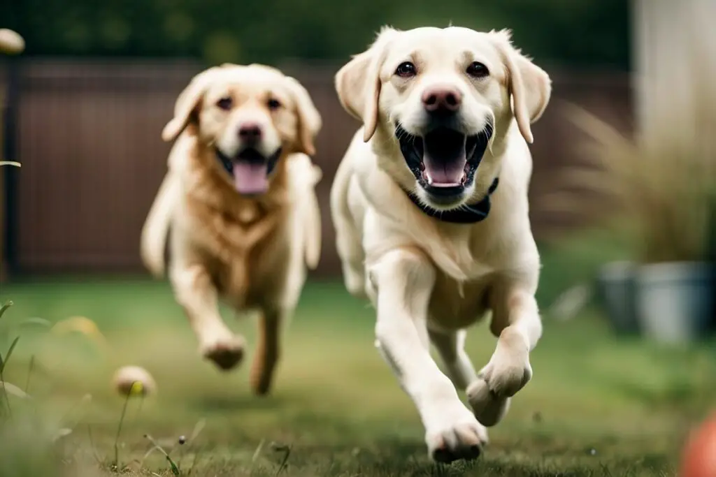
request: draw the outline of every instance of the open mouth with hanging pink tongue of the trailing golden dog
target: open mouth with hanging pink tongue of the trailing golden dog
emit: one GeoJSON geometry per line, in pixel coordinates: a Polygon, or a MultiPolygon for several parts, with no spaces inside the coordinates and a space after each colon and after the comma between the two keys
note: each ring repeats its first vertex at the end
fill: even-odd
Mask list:
{"type": "Polygon", "coordinates": [[[281,148],[269,157],[264,157],[256,149],[246,148],[233,158],[216,149],[216,157],[233,178],[239,194],[257,195],[269,190],[269,175],[281,157],[281,148]]]}

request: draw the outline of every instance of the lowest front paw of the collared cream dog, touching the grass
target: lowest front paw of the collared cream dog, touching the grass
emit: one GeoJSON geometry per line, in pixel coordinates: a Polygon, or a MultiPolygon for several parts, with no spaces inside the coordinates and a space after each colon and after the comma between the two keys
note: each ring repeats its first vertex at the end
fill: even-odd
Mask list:
{"type": "Polygon", "coordinates": [[[487,429],[464,406],[455,417],[445,415],[436,421],[425,433],[427,451],[435,462],[471,461],[480,456],[488,443],[487,429]]]}

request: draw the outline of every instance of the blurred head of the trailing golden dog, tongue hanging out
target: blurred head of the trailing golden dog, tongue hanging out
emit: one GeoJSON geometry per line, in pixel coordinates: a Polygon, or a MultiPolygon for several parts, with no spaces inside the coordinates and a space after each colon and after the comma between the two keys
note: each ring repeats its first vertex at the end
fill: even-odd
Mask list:
{"type": "Polygon", "coordinates": [[[243,195],[269,189],[282,155],[315,153],[321,117],[306,89],[278,69],[225,64],[196,75],[179,95],[162,138],[186,130],[216,154],[216,166],[243,195]],[[193,127],[188,128],[190,124],[193,127]]]}

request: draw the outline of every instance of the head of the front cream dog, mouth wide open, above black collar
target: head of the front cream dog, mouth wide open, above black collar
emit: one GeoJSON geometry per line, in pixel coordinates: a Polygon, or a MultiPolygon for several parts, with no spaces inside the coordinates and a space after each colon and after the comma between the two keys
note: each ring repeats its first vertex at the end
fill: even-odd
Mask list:
{"type": "Polygon", "coordinates": [[[532,142],[551,81],[506,30],[384,28],[339,70],[336,89],[364,140],[373,138],[380,167],[430,207],[450,210],[485,195],[492,178],[476,180],[478,165],[496,174],[513,122],[532,142]]]}

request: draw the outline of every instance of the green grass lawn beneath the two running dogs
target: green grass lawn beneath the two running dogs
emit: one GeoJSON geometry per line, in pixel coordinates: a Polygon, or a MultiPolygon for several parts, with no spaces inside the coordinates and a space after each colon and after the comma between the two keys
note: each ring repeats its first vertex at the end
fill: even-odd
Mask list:
{"type": "MultiPolygon", "coordinates": [[[[0,322],[3,355],[21,336],[5,378],[28,385],[34,404],[11,398],[16,425],[6,420],[0,430],[1,477],[109,473],[125,405],[110,385],[120,365],[144,366],[159,389],[127,405],[116,441],[130,476],[173,475],[159,452],[142,462],[152,446],[145,434],[174,447],[183,476],[674,476],[684,436],[716,391],[713,343],[674,349],[617,340],[591,311],[569,322],[546,318],[533,380],[491,430],[483,456],[435,466],[415,408],[374,350],[371,308],[339,283],[306,287],[268,398],[251,395],[247,362],[220,373],[200,360],[163,282],[34,280],[3,285],[5,300],[15,305],[0,322]],[[111,349],[21,325],[72,315],[95,320],[111,349]],[[87,393],[91,402],[82,400],[87,393]],[[26,415],[72,428],[57,441],[59,453],[21,426],[26,415]],[[195,439],[175,445],[200,422],[195,439]]],[[[225,317],[254,343],[251,317],[225,317]]],[[[485,325],[468,338],[476,368],[495,345],[485,325]]]]}

